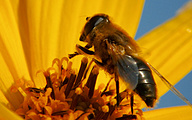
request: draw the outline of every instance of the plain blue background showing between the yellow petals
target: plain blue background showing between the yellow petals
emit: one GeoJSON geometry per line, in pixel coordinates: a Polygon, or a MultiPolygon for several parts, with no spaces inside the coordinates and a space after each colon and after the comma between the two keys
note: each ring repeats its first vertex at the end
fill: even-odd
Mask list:
{"type": "MultiPolygon", "coordinates": [[[[135,39],[175,16],[177,10],[187,2],[188,0],[146,0],[135,39]]],[[[175,87],[192,103],[192,72],[175,87]]],[[[186,103],[169,91],[160,98],[154,109],[179,105],[186,105],[186,103]]]]}

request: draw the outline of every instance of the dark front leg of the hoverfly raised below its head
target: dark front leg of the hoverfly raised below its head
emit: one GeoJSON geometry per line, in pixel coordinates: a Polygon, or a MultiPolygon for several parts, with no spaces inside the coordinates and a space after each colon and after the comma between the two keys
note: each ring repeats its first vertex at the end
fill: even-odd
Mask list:
{"type": "Polygon", "coordinates": [[[81,46],[81,45],[76,45],[76,49],[77,49],[77,52],[74,52],[73,54],[69,54],[69,58],[73,58],[77,55],[81,55],[81,54],[87,54],[87,55],[94,55],[95,52],[94,51],[91,51],[91,50],[88,50],[90,48],[89,45],[86,45],[85,47],[81,46]]]}

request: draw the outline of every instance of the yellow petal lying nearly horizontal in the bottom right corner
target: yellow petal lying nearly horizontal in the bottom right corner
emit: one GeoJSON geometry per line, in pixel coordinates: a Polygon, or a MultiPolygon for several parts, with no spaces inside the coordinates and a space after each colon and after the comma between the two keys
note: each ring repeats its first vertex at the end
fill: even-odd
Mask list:
{"type": "Polygon", "coordinates": [[[189,106],[151,110],[144,112],[143,115],[146,120],[192,120],[189,106]]]}

